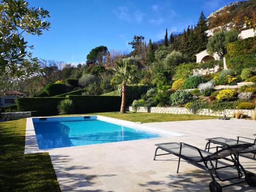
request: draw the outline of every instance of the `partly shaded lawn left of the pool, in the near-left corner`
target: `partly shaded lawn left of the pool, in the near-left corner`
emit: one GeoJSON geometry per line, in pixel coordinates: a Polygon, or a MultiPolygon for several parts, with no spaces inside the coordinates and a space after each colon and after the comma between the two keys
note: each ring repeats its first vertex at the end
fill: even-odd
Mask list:
{"type": "Polygon", "coordinates": [[[60,191],[48,153],[24,155],[25,127],[0,122],[0,191],[60,191]]]}

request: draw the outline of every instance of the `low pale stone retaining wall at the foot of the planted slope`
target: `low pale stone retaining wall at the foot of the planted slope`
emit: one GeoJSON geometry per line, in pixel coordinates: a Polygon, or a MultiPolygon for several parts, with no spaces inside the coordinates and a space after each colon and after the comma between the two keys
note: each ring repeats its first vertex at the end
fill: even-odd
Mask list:
{"type": "MultiPolygon", "coordinates": [[[[133,106],[129,106],[129,111],[135,112],[133,106]]],[[[224,112],[213,112],[209,109],[202,109],[198,113],[198,115],[210,115],[210,116],[223,116],[226,114],[227,117],[233,117],[236,113],[241,113],[243,115],[247,115],[248,117],[253,117],[254,110],[240,110],[240,109],[233,109],[233,110],[224,110],[224,112]]],[[[189,109],[186,108],[160,108],[160,107],[151,107],[147,108],[144,106],[140,106],[137,108],[137,112],[141,113],[172,113],[172,114],[193,114],[189,109]]]]}

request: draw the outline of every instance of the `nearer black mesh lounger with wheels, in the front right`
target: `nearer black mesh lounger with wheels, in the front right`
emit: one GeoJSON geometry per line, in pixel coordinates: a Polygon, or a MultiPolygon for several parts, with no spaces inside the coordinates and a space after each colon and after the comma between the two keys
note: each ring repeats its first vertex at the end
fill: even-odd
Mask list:
{"type": "Polygon", "coordinates": [[[242,182],[247,182],[250,186],[256,187],[256,176],[251,173],[246,173],[236,155],[240,151],[245,150],[252,145],[253,143],[224,146],[221,148],[221,150],[215,153],[210,153],[186,143],[160,143],[156,144],[157,148],[154,160],[156,160],[156,156],[172,154],[179,157],[177,173],[179,172],[180,159],[184,159],[188,163],[206,170],[212,179],[212,181],[209,183],[209,189],[211,192],[221,192],[223,187],[239,184],[242,182]],[[167,153],[157,155],[157,151],[159,149],[167,153]],[[230,156],[231,159],[226,158],[228,156],[230,156]],[[225,159],[232,162],[232,164],[219,161],[219,159],[225,159]],[[221,186],[215,180],[214,175],[223,182],[233,179],[242,179],[243,176],[245,176],[245,179],[242,179],[239,182],[221,186]]]}

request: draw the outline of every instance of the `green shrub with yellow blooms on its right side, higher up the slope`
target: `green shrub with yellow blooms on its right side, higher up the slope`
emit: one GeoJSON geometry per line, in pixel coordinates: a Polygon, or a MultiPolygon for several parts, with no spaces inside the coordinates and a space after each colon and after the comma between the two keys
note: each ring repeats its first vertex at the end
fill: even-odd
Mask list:
{"type": "Polygon", "coordinates": [[[236,77],[236,73],[232,70],[223,70],[214,77],[214,83],[216,86],[221,84],[235,85],[240,79],[236,77]]]}

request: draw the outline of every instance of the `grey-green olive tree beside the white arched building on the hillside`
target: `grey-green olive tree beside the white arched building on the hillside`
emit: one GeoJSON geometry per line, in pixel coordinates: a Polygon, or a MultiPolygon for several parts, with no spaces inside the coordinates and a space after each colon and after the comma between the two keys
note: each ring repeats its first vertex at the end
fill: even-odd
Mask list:
{"type": "Polygon", "coordinates": [[[227,53],[227,44],[238,40],[238,34],[239,32],[237,30],[215,32],[214,35],[208,39],[206,45],[207,52],[210,55],[217,53],[220,57],[224,57],[227,53]]]}

